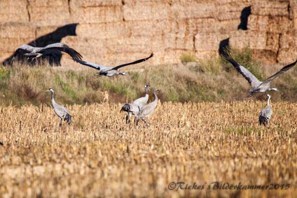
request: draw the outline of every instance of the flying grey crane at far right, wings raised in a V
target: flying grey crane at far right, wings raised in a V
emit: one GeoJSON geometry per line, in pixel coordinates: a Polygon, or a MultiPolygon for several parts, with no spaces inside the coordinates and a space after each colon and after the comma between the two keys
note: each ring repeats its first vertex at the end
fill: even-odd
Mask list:
{"type": "Polygon", "coordinates": [[[252,89],[249,90],[250,93],[263,93],[266,91],[277,91],[276,88],[270,88],[270,83],[272,82],[272,80],[278,77],[279,75],[285,73],[292,67],[294,67],[295,64],[297,63],[297,60],[296,60],[295,62],[283,67],[280,71],[278,71],[274,75],[267,78],[264,82],[262,82],[262,81],[259,81],[250,71],[248,71],[247,68],[245,68],[244,66],[236,62],[229,52],[226,52],[225,54],[223,54],[222,57],[225,60],[229,61],[237,69],[237,71],[247,79],[248,83],[252,87],[252,89]]]}

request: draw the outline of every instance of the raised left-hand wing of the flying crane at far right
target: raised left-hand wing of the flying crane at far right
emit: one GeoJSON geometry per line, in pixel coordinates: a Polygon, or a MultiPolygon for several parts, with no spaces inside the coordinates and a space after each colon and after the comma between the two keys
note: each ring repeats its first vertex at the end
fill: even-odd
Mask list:
{"type": "Polygon", "coordinates": [[[247,79],[248,83],[251,85],[252,88],[258,87],[262,82],[259,81],[250,71],[248,71],[247,68],[240,65],[238,62],[236,62],[233,57],[230,55],[230,53],[225,53],[222,55],[222,57],[229,61],[236,70],[247,79]]]}

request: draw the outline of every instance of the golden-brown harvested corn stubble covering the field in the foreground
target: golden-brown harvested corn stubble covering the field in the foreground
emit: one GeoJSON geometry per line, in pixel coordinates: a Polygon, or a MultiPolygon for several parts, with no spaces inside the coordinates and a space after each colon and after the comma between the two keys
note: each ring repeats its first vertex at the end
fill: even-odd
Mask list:
{"type": "Polygon", "coordinates": [[[159,103],[138,129],[122,104],[67,106],[71,126],[51,107],[0,107],[1,197],[296,197],[297,107],[265,102],[159,103]],[[174,190],[203,185],[291,184],[288,190],[174,190]]]}

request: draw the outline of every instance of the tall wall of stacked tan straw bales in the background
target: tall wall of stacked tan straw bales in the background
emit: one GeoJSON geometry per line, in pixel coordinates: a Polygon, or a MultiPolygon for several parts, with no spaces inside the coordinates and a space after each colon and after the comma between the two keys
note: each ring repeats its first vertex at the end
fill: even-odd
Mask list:
{"type": "Polygon", "coordinates": [[[296,0],[0,0],[0,61],[24,43],[61,41],[106,65],[152,51],[156,64],[182,53],[202,58],[226,44],[288,63],[297,58],[296,36],[296,0]]]}

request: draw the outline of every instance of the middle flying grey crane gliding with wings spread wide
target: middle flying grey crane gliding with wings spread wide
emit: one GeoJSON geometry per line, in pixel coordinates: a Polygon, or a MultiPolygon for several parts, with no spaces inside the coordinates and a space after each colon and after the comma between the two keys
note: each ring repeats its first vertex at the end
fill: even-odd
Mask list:
{"type": "Polygon", "coordinates": [[[86,62],[84,60],[75,60],[77,62],[79,62],[80,64],[92,67],[94,69],[99,70],[99,72],[97,72],[97,76],[95,76],[94,78],[98,78],[100,76],[114,76],[114,75],[126,75],[125,72],[119,72],[118,69],[127,65],[132,65],[132,64],[137,64],[140,62],[144,62],[146,60],[148,60],[149,58],[151,58],[153,56],[153,53],[150,54],[150,56],[148,56],[147,58],[143,58],[143,59],[139,59],[136,60],[134,62],[130,62],[130,63],[125,63],[125,64],[121,64],[115,67],[105,67],[96,63],[92,63],[92,62],[86,62]]]}

